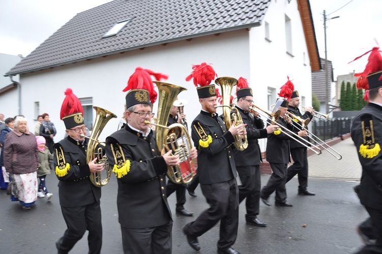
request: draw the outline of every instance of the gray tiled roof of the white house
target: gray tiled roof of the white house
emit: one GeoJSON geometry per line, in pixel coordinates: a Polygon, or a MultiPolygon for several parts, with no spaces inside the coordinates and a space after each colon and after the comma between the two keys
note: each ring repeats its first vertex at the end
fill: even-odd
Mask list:
{"type": "Polygon", "coordinates": [[[7,75],[258,26],[270,0],[115,0],[78,13],[7,75]],[[115,36],[102,36],[131,18],[115,36]]]}

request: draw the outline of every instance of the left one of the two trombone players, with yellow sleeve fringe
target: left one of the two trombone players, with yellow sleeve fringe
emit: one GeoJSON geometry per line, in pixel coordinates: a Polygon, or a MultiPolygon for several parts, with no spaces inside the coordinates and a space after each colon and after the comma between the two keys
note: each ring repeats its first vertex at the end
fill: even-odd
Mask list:
{"type": "MultiPolygon", "coordinates": [[[[288,101],[282,99],[280,105],[280,117],[277,123],[284,126],[288,130],[292,130],[293,126],[291,124],[291,119],[286,117],[285,114],[288,109],[288,101]]],[[[267,206],[271,206],[268,198],[270,194],[276,191],[275,206],[280,207],[292,207],[293,205],[287,202],[286,194],[286,175],[287,166],[290,162],[289,157],[289,139],[290,137],[284,133],[284,130],[277,130],[267,137],[266,143],[266,160],[269,162],[270,168],[272,169],[272,174],[269,177],[268,183],[263,186],[260,198],[263,203],[267,206]]],[[[306,131],[299,131],[298,136],[306,136],[308,133],[306,131]]]]}

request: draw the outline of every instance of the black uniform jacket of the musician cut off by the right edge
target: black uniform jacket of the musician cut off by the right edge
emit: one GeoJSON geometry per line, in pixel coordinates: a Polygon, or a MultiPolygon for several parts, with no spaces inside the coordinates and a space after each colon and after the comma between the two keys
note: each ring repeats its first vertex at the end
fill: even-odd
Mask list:
{"type": "Polygon", "coordinates": [[[366,144],[374,145],[375,149],[382,146],[382,107],[374,103],[367,104],[352,122],[351,138],[357,147],[358,158],[362,165],[359,193],[361,204],[382,210],[382,151],[379,149],[378,153],[370,154],[370,158],[360,154],[360,146],[365,141],[366,144]]]}

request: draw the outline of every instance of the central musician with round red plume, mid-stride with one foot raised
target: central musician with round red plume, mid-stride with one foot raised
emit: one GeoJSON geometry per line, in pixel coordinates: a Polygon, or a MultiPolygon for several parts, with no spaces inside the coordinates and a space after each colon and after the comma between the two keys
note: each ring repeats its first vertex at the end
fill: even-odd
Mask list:
{"type": "Polygon", "coordinates": [[[200,250],[198,237],[206,233],[220,221],[220,238],[217,242],[218,253],[239,253],[232,248],[236,241],[238,228],[238,188],[236,167],[231,144],[235,135],[245,135],[245,125],[232,124],[227,131],[223,120],[216,114],[216,89],[209,85],[215,78],[210,65],[202,63],[193,66],[194,71],[186,81],[194,78],[200,114],[192,123],[192,139],[198,146],[198,174],[202,193],[209,208],[199,217],[183,227],[188,244],[200,250]]]}

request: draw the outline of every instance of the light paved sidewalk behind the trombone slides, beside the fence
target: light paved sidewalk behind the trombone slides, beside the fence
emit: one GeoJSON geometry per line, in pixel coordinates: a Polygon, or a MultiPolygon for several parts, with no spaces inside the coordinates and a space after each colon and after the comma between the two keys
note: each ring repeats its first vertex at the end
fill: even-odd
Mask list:
{"type": "Polygon", "coordinates": [[[338,160],[328,151],[322,149],[321,155],[308,157],[309,177],[360,181],[362,167],[358,160],[356,146],[354,146],[351,138],[340,141],[332,147],[342,155],[342,159],[338,160]]]}

